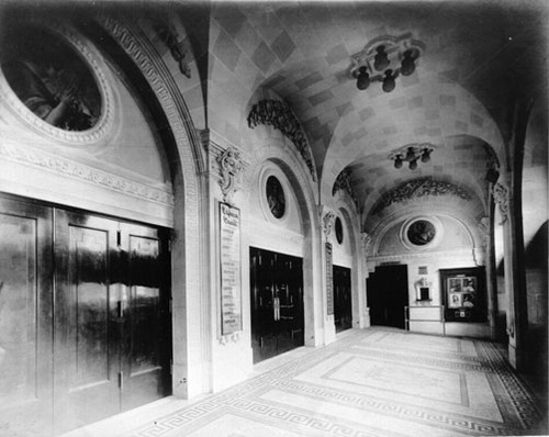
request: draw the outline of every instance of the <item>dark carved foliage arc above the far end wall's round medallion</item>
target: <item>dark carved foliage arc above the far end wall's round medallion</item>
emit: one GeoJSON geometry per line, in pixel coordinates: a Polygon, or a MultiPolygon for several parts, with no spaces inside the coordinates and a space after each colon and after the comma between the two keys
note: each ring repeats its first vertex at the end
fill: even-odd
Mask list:
{"type": "Polygon", "coordinates": [[[393,203],[404,202],[424,195],[455,195],[460,199],[471,200],[471,195],[463,189],[452,183],[436,181],[432,177],[427,177],[407,181],[383,194],[373,208],[372,213],[377,214],[393,203]]]}

